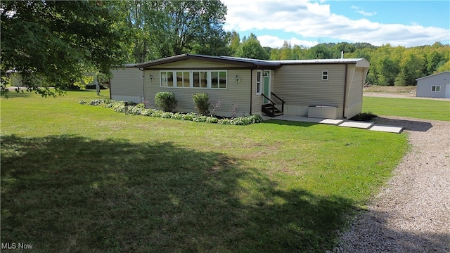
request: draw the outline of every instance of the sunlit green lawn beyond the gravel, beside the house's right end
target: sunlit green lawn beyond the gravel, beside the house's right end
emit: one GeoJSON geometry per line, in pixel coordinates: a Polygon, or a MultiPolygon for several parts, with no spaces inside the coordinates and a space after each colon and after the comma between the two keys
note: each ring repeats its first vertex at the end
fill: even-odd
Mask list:
{"type": "Polygon", "coordinates": [[[450,121],[450,101],[416,98],[363,98],[363,112],[378,116],[450,121]]]}

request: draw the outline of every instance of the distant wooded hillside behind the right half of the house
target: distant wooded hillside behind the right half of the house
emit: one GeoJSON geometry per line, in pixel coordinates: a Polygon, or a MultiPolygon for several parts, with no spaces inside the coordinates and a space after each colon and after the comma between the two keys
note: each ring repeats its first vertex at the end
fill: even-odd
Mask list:
{"type": "Polygon", "coordinates": [[[416,85],[416,79],[450,70],[450,45],[440,42],[425,46],[373,46],[368,43],[323,43],[311,48],[291,46],[272,48],[271,60],[364,58],[371,63],[366,82],[374,85],[416,85]]]}

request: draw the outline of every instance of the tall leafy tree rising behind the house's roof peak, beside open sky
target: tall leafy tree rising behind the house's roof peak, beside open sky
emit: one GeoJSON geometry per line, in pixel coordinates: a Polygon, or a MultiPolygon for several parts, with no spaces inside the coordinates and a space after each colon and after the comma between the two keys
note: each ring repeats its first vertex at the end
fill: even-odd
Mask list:
{"type": "MultiPolygon", "coordinates": [[[[153,1],[153,15],[148,15],[151,31],[158,31],[155,42],[160,57],[191,53],[195,45],[209,45],[208,53],[218,55],[226,47],[226,6],[221,1],[153,1]],[[221,39],[217,39],[221,38],[221,39]],[[211,43],[212,42],[212,43],[211,43]]],[[[199,47],[198,53],[203,53],[199,47]]]]}

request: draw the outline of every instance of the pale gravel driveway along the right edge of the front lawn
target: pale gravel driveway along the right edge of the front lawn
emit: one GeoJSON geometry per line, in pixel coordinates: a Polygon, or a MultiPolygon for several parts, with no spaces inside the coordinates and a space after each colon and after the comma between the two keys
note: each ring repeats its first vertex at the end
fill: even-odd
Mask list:
{"type": "Polygon", "coordinates": [[[333,252],[450,252],[450,122],[375,123],[404,126],[411,150],[333,252]]]}

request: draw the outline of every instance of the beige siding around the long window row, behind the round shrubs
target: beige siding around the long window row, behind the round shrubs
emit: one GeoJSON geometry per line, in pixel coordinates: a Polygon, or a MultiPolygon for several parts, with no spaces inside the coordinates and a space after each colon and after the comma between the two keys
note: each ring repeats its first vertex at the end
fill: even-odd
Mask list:
{"type": "MultiPolygon", "coordinates": [[[[215,67],[216,65],[213,66],[215,67]]],[[[205,67],[205,70],[210,68],[205,67]]],[[[173,70],[176,69],[174,68],[173,70]]],[[[227,89],[161,87],[160,70],[144,70],[144,79],[146,83],[146,100],[148,100],[150,108],[156,108],[156,93],[169,91],[173,92],[176,100],[178,100],[176,111],[195,112],[192,96],[194,93],[201,92],[210,95],[212,107],[216,105],[217,101],[221,102],[221,108],[217,112],[219,116],[230,117],[233,103],[238,105],[239,111],[237,115],[248,115],[250,113],[250,70],[227,70],[227,89]],[[150,74],[153,76],[153,81],[150,80],[150,74]],[[236,75],[240,77],[239,82],[236,81],[236,75]]]]}

